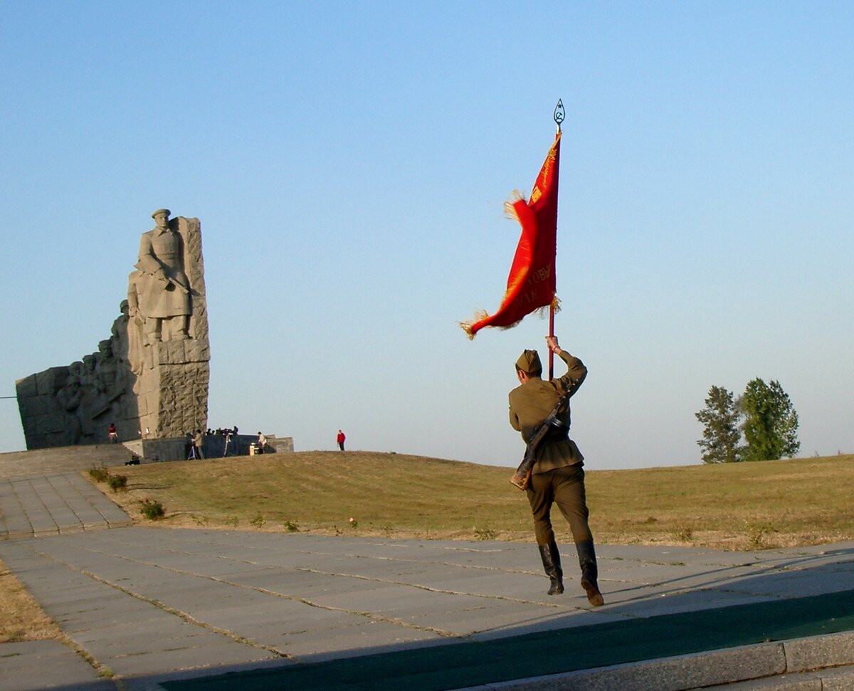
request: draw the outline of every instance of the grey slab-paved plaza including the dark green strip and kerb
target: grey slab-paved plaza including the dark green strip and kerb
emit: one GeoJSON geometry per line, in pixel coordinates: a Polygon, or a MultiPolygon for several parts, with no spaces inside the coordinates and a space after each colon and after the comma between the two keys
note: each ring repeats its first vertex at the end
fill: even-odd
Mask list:
{"type": "Polygon", "coordinates": [[[0,646],[8,691],[854,688],[851,542],[601,545],[592,609],[571,546],[548,596],[533,544],[134,527],[80,479],[0,483],[0,559],[67,636],[0,646]]]}

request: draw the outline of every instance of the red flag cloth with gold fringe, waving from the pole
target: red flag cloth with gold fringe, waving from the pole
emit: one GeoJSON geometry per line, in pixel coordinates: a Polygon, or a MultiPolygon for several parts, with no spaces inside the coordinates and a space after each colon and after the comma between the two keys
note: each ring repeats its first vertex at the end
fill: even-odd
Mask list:
{"type": "Polygon", "coordinates": [[[522,237],[507,278],[507,290],[498,310],[477,315],[474,323],[460,325],[470,338],[484,326],[509,329],[536,309],[557,304],[554,264],[558,249],[558,170],[560,132],[548,149],[530,200],[518,198],[505,208],[522,225],[522,237]]]}

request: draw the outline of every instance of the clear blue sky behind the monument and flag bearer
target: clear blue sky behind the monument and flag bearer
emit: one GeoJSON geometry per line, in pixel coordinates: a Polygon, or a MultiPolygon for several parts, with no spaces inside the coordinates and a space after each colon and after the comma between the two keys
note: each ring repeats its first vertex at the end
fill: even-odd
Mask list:
{"type": "Polygon", "coordinates": [[[210,426],[515,465],[547,322],[457,322],[500,301],[561,98],[588,469],[699,463],[708,390],[755,377],[802,455],[854,451],[852,3],[6,0],[0,94],[2,395],[108,337],[167,207],[202,221],[210,426]]]}

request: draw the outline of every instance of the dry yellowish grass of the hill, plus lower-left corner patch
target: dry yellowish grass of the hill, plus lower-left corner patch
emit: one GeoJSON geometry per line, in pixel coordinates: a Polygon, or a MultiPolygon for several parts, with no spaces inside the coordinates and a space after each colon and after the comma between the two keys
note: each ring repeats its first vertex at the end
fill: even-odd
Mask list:
{"type": "MultiPolygon", "coordinates": [[[[533,541],[512,469],[404,454],[300,452],[109,469],[139,524],[315,535],[533,541]],[[142,502],[160,502],[149,520],[142,502]],[[352,521],[351,521],[352,518],[352,521]]],[[[89,477],[89,473],[86,473],[89,477]]],[[[90,478],[91,479],[91,478],[90,478]]],[[[597,542],[729,550],[854,540],[854,455],[632,471],[588,467],[597,542]]],[[[557,513],[557,512],[556,512],[557,513]]],[[[559,542],[569,542],[553,516],[559,542]]],[[[0,564],[0,642],[61,638],[0,564]]]]}

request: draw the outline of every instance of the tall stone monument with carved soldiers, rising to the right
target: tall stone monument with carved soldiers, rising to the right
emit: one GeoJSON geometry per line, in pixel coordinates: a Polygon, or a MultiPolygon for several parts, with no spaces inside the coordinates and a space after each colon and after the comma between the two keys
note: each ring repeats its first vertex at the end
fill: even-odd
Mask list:
{"type": "Polygon", "coordinates": [[[26,448],[185,436],[208,425],[202,228],[155,211],[127,299],[97,352],[16,382],[26,448]]]}

